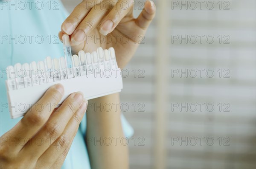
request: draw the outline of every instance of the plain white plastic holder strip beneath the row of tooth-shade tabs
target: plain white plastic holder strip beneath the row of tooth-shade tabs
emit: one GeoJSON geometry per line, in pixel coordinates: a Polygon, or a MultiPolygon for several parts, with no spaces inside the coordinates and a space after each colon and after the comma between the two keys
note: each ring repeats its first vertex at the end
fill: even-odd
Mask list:
{"type": "MultiPolygon", "coordinates": [[[[64,101],[64,99],[73,92],[81,91],[84,93],[84,98],[89,100],[118,93],[122,90],[122,76],[120,69],[111,70],[111,76],[103,75],[100,77],[99,74],[96,76],[95,74],[88,74],[87,76],[79,76],[19,90],[8,90],[7,94],[9,98],[11,117],[17,118],[23,116],[29,110],[29,104],[35,104],[49,87],[58,83],[62,84],[65,89],[64,97],[60,103],[62,103],[62,101],[64,101]],[[19,110],[15,107],[15,105],[17,106],[24,103],[29,103],[26,104],[26,109],[19,110]]],[[[6,85],[8,85],[8,80],[6,81],[6,85]]]]}

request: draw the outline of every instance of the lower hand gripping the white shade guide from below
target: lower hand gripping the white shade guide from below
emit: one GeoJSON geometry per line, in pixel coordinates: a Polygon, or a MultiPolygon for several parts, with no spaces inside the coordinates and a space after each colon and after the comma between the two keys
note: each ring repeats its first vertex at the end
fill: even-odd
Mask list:
{"type": "Polygon", "coordinates": [[[61,168],[87,108],[80,92],[54,110],[64,94],[50,87],[11,130],[1,136],[0,168],[61,168]]]}

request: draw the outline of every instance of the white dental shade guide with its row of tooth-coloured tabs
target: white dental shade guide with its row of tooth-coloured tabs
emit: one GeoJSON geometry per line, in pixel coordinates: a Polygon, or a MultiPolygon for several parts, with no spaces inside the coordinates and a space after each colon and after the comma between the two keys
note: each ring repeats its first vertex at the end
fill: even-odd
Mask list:
{"type": "Polygon", "coordinates": [[[68,68],[64,57],[51,59],[48,56],[44,62],[31,62],[23,65],[17,63],[14,67],[8,66],[6,89],[11,117],[23,116],[49,87],[58,83],[65,88],[64,97],[60,104],[71,93],[78,91],[83,92],[84,98],[87,100],[120,92],[122,90],[120,68],[117,65],[113,66],[117,69],[110,68],[112,67],[111,52],[103,51],[102,48],[98,49],[92,54],[85,54],[84,51],[80,51],[79,56],[74,55],[71,58],[72,72],[75,74],[75,77],[71,78],[67,75],[68,68]],[[103,64],[101,69],[100,62],[103,64]],[[107,69],[104,65],[107,65],[105,66],[107,69]],[[25,108],[22,110],[18,108],[19,105],[24,104],[26,105],[25,108]]]}

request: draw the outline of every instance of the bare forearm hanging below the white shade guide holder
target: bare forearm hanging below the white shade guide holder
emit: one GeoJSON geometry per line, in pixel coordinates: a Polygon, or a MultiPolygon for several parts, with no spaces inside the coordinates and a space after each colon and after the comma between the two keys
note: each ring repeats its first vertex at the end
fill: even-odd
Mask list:
{"type": "Polygon", "coordinates": [[[92,142],[87,142],[91,167],[128,168],[128,147],[120,142],[124,136],[120,106],[117,106],[117,109],[114,106],[120,102],[119,94],[103,96],[88,102],[86,137],[87,141],[89,138],[93,139],[92,142]],[[104,109],[104,104],[106,109],[104,109]],[[111,105],[110,110],[107,104],[111,105]],[[106,144],[104,142],[104,139],[108,137],[112,141],[110,145],[106,145],[109,144],[109,139],[105,140],[106,144]],[[95,143],[95,139],[102,139],[102,145],[100,142],[95,143]]]}

